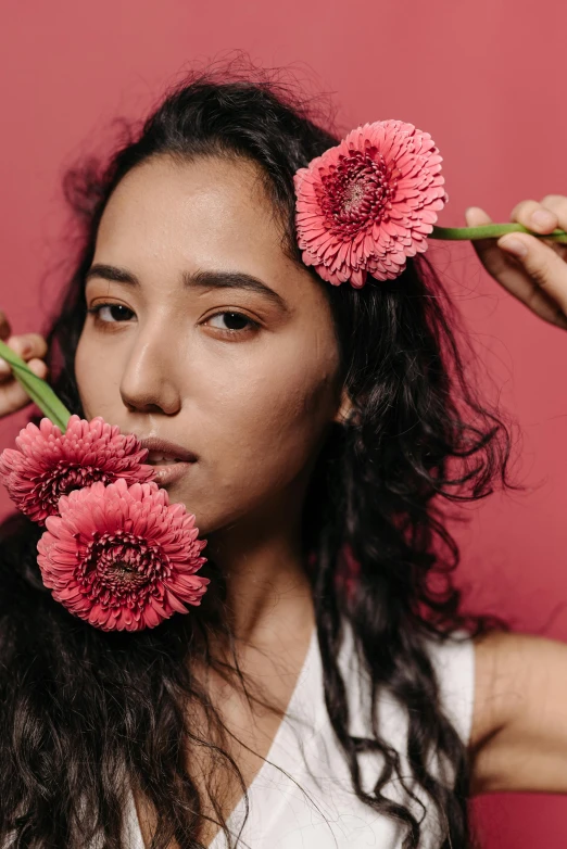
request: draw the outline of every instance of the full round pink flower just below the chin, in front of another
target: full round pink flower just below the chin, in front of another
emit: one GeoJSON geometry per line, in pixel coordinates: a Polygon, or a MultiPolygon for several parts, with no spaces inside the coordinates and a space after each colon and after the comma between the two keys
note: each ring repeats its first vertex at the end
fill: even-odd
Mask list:
{"type": "Polygon", "coordinates": [[[43,583],[72,613],[103,631],[154,628],[199,605],[207,578],[194,516],[155,482],[123,478],[62,495],[37,544],[43,583]]]}

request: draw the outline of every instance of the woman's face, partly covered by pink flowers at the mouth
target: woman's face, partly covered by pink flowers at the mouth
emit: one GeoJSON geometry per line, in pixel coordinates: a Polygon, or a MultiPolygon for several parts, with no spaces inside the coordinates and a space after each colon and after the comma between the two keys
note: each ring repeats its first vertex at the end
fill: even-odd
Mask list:
{"type": "Polygon", "coordinates": [[[86,284],[87,307],[105,306],[87,315],[76,352],[85,416],[197,456],[164,485],[200,535],[286,521],[342,415],[326,284],[285,255],[257,176],[219,159],[128,173],[86,284]]]}

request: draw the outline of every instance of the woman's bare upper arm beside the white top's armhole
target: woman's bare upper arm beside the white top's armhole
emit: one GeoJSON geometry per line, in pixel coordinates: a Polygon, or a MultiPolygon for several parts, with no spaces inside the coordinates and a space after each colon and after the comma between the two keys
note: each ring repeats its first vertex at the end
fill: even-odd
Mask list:
{"type": "Polygon", "coordinates": [[[491,633],[475,659],[471,793],[567,793],[567,645],[491,633]]]}

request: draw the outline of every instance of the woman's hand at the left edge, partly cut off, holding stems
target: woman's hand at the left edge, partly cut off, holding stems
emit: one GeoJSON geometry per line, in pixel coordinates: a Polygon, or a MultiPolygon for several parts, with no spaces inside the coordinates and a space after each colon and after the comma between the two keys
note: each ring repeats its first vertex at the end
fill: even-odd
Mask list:
{"type": "MultiPolygon", "coordinates": [[[[0,339],[25,360],[38,378],[45,380],[48,367],[42,359],[47,354],[47,342],[43,337],[39,333],[22,333],[18,337],[12,337],[10,333],[10,322],[0,311],[0,339]]],[[[27,392],[13,377],[8,363],[0,358],[0,418],[25,407],[30,401],[27,392]]]]}

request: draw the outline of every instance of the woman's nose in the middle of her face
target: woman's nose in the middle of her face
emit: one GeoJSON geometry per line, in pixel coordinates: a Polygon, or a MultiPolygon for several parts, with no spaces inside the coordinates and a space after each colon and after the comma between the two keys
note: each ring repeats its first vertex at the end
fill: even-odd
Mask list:
{"type": "Polygon", "coordinates": [[[129,408],[158,408],[173,416],[181,406],[175,345],[163,330],[159,335],[159,339],[136,340],[124,367],[119,391],[123,403],[129,408]]]}

